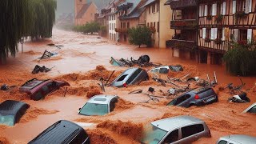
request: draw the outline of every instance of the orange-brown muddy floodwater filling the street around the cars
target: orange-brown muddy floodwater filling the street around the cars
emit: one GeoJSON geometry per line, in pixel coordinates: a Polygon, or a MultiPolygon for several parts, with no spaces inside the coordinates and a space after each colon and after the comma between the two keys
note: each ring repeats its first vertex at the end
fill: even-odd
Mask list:
{"type": "MultiPolygon", "coordinates": [[[[30,104],[30,109],[15,126],[0,125],[0,143],[27,143],[58,120],[69,120],[78,123],[90,135],[92,143],[139,143],[142,128],[146,123],[161,118],[170,118],[178,115],[191,115],[201,118],[210,127],[211,138],[201,138],[194,143],[214,143],[219,137],[227,134],[249,134],[256,136],[256,115],[242,114],[252,103],[256,102],[256,78],[242,78],[250,103],[228,102],[230,93],[222,90],[227,83],[240,84],[236,76],[226,73],[224,66],[198,64],[189,60],[172,58],[170,49],[138,48],[115,42],[97,35],[85,35],[70,31],[54,29],[53,37],[39,42],[25,43],[24,52],[21,46],[16,58],[8,58],[6,66],[0,66],[0,85],[17,86],[10,91],[0,91],[0,102],[7,99],[19,100],[30,104]],[[46,46],[49,43],[62,45],[61,49],[46,46]],[[50,59],[38,60],[45,50],[56,52],[57,55],[50,59]],[[206,78],[210,74],[213,78],[217,74],[218,86],[214,87],[218,94],[219,102],[207,106],[192,106],[182,108],[166,106],[172,98],[159,98],[160,102],[146,103],[149,98],[144,94],[128,94],[132,90],[142,89],[144,92],[149,87],[154,87],[156,95],[161,95],[159,90],[167,91],[172,86],[161,86],[158,82],[150,80],[142,82],[139,86],[127,88],[106,87],[102,92],[98,86],[99,78],[108,78],[113,70],[114,76],[121,74],[126,67],[110,65],[110,57],[138,58],[148,54],[151,62],[163,65],[181,64],[184,66],[182,73],[172,74],[179,77],[184,74],[206,78]],[[48,73],[31,74],[35,65],[52,68],[48,73]],[[46,96],[43,100],[32,101],[26,94],[21,94],[18,88],[31,78],[58,79],[70,83],[66,92],[60,89],[46,96]],[[94,94],[115,94],[121,100],[114,112],[105,116],[82,116],[77,111],[94,94]],[[85,125],[90,123],[90,125],[85,125]]],[[[145,68],[149,70],[150,68],[145,68]]],[[[213,79],[212,79],[213,80],[213,79]]]]}

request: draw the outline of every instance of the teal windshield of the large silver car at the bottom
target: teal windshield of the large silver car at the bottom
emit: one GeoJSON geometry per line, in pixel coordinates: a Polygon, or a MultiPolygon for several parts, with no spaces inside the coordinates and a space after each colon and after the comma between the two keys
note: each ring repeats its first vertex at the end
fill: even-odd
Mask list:
{"type": "Polygon", "coordinates": [[[157,144],[167,134],[167,131],[159,129],[157,126],[149,124],[144,127],[142,143],[157,144]]]}

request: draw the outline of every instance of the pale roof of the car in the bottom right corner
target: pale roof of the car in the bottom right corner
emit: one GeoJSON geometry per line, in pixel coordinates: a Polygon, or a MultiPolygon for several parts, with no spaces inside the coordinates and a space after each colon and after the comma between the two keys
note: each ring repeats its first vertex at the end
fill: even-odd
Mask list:
{"type": "Polygon", "coordinates": [[[250,135],[244,135],[244,134],[227,135],[225,137],[220,138],[220,140],[232,141],[232,142],[238,142],[238,143],[256,142],[256,138],[255,137],[252,137],[250,135]]]}

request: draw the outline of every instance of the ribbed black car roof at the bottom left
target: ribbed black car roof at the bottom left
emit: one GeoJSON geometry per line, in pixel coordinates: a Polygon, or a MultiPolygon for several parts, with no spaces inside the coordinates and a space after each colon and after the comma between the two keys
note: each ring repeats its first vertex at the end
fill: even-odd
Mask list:
{"type": "Polygon", "coordinates": [[[55,122],[41,134],[38,134],[38,136],[29,143],[69,143],[69,141],[82,130],[82,127],[74,122],[61,120],[55,122]]]}

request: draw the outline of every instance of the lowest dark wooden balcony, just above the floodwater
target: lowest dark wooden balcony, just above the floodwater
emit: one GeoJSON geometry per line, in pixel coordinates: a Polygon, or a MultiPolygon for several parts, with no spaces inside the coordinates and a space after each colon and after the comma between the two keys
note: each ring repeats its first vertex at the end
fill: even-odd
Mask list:
{"type": "Polygon", "coordinates": [[[166,41],[166,47],[183,49],[183,50],[194,50],[197,47],[197,45],[196,45],[196,42],[194,41],[170,39],[166,41]]]}

